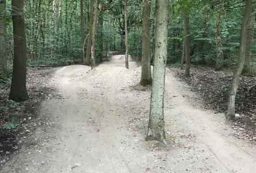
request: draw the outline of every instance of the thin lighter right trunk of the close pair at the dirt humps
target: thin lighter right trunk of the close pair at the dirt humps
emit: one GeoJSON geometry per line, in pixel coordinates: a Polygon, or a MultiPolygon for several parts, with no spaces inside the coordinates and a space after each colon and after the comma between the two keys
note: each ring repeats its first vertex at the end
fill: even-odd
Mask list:
{"type": "Polygon", "coordinates": [[[95,66],[96,61],[95,61],[95,35],[97,31],[97,21],[98,21],[98,1],[96,0],[94,2],[94,17],[93,17],[93,24],[92,24],[92,45],[91,45],[91,69],[93,66],[95,66]]]}

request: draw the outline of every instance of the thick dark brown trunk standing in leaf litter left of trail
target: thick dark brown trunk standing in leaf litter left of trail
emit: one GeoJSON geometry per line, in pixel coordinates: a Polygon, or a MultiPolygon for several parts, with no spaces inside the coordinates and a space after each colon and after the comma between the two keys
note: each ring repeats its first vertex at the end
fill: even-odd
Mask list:
{"type": "Polygon", "coordinates": [[[28,99],[26,88],[27,43],[24,23],[24,1],[12,0],[14,58],[9,98],[14,101],[28,99]]]}

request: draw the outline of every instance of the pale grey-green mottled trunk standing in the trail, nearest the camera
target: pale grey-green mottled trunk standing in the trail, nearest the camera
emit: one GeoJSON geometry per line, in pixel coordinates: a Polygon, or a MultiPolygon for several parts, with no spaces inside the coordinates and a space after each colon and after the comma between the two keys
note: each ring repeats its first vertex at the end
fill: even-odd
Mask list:
{"type": "Polygon", "coordinates": [[[156,36],[153,85],[150,100],[149,129],[147,140],[165,143],[164,91],[167,59],[168,1],[156,1],[156,36]]]}

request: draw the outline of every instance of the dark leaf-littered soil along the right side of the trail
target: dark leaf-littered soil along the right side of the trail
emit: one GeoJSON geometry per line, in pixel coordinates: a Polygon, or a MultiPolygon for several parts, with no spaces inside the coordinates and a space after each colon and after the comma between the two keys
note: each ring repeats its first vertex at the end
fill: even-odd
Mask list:
{"type": "MultiPolygon", "coordinates": [[[[202,96],[203,106],[217,112],[227,111],[227,98],[233,73],[231,70],[216,72],[211,67],[191,67],[191,77],[184,77],[183,70],[172,67],[176,77],[187,82],[192,91],[202,96]]],[[[236,95],[236,113],[241,116],[232,122],[239,138],[256,141],[256,77],[243,76],[236,95]]]]}

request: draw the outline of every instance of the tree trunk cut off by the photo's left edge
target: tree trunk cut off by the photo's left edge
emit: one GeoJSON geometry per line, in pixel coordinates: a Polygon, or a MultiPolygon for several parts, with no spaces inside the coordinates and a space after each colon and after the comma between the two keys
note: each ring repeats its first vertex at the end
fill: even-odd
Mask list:
{"type": "Polygon", "coordinates": [[[8,78],[9,72],[7,67],[8,52],[6,51],[6,21],[5,21],[6,1],[0,1],[0,74],[8,78]]]}

